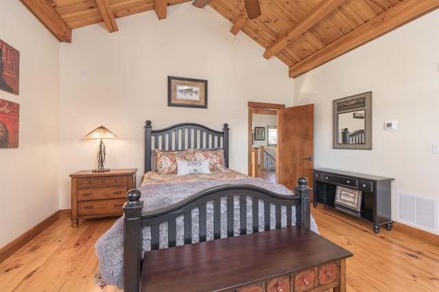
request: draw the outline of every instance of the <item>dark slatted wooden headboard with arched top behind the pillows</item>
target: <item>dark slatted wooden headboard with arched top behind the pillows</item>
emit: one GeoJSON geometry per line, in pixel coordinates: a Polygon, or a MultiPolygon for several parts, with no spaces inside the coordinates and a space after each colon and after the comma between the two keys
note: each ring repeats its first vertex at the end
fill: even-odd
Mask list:
{"type": "Polygon", "coordinates": [[[224,149],[224,166],[228,168],[228,124],[215,131],[198,123],[179,123],[164,129],[152,130],[151,121],[145,125],[145,172],[152,170],[152,150],[184,150],[193,148],[224,149]]]}

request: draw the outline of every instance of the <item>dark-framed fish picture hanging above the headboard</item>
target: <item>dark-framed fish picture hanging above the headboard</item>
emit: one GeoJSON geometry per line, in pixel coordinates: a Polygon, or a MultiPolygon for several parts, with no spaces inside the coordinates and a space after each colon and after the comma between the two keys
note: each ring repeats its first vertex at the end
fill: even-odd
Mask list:
{"type": "Polygon", "coordinates": [[[167,105],[207,108],[207,80],[168,76],[167,105]]]}

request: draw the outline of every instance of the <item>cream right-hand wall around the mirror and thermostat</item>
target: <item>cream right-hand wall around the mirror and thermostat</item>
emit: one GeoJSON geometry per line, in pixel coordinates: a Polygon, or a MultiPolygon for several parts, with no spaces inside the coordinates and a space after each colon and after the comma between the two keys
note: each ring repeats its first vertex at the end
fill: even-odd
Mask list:
{"type": "Polygon", "coordinates": [[[394,178],[392,219],[397,191],[439,199],[438,72],[436,11],[297,77],[295,104],[316,104],[315,166],[394,178]],[[372,150],[333,149],[333,99],[366,91],[372,91],[372,150]],[[387,120],[397,120],[399,129],[385,131],[387,120]]]}

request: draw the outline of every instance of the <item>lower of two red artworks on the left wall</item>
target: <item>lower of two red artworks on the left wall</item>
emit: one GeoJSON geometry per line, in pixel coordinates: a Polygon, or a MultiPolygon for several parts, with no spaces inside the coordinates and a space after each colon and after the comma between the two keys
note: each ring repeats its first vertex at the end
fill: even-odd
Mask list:
{"type": "Polygon", "coordinates": [[[0,148],[19,147],[20,105],[0,99],[0,148]]]}

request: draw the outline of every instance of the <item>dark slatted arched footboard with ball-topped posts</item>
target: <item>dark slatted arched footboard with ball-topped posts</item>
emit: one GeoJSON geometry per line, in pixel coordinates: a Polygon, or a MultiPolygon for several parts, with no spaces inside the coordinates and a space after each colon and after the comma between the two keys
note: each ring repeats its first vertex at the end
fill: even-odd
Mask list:
{"type": "MultiPolygon", "coordinates": [[[[208,220],[207,217],[213,216],[213,239],[221,237],[222,204],[226,204],[226,237],[234,236],[235,232],[235,212],[234,202],[239,201],[239,235],[248,233],[248,208],[251,208],[252,228],[250,233],[269,230],[270,226],[281,228],[282,218],[286,216],[287,226],[291,226],[293,219],[296,225],[310,227],[310,193],[311,188],[307,187],[307,179],[299,178],[298,186],[294,187],[295,195],[279,195],[272,193],[264,188],[244,184],[224,184],[208,188],[199,193],[191,195],[187,199],[151,212],[142,214],[143,202],[139,199],[141,193],[137,189],[128,191],[128,202],[123,206],[125,212],[125,228],[123,234],[123,283],[124,291],[139,291],[141,275],[141,246],[142,228],[151,229],[151,249],[159,248],[159,226],[167,223],[167,245],[176,245],[176,219],[184,217],[184,244],[193,241],[191,232],[193,209],[198,208],[199,232],[196,241],[207,240],[208,220]],[[248,201],[252,202],[248,207],[248,201]],[[210,204],[210,205],[208,205],[210,204]],[[263,210],[260,210],[260,206],[263,210]],[[296,216],[293,218],[295,206],[296,216]],[[208,209],[211,208],[210,212],[208,209]],[[274,222],[270,212],[274,208],[274,222]],[[259,214],[263,213],[263,230],[259,226],[259,214]],[[209,214],[208,214],[209,213],[209,214]]],[[[224,219],[223,219],[224,220],[224,219]]]]}

